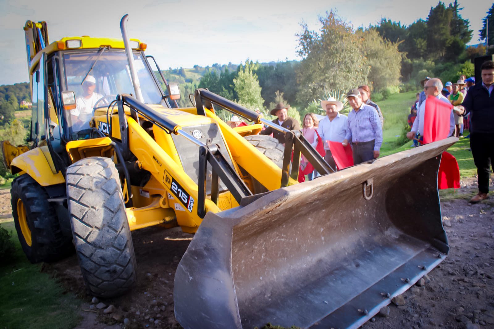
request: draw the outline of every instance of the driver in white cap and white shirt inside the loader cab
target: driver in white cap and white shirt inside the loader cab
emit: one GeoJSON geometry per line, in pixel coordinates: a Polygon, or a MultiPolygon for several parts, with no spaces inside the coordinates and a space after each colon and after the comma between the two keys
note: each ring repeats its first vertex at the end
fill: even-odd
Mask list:
{"type": "Polygon", "coordinates": [[[93,76],[87,76],[82,82],[82,96],[76,99],[76,108],[70,113],[74,130],[89,128],[94,105],[103,97],[103,95],[94,92],[94,88],[96,88],[96,79],[93,76]]]}

